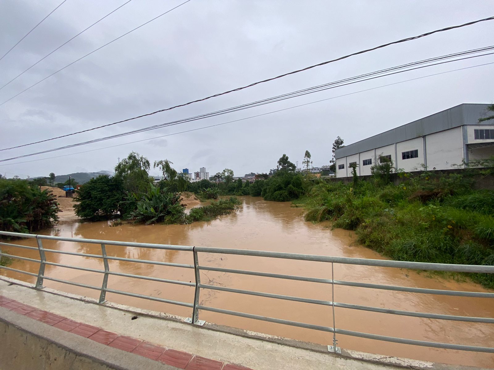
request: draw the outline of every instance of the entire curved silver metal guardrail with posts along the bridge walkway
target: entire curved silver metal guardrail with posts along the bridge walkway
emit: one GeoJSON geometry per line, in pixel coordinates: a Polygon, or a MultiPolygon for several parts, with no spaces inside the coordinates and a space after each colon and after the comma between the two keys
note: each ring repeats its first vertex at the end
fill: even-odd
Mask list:
{"type": "Polygon", "coordinates": [[[40,268],[38,274],[19,270],[16,268],[1,266],[0,268],[19,272],[22,274],[27,274],[30,276],[36,276],[36,288],[43,288],[43,280],[51,280],[59,283],[65,283],[70,285],[75,285],[82,288],[88,288],[93,290],[100,291],[99,302],[103,303],[106,299],[106,293],[114,293],[124,296],[132,296],[143,299],[150,299],[158,302],[176,304],[180,306],[190,307],[192,308],[192,317],[188,319],[188,322],[193,324],[202,325],[204,321],[199,320],[199,311],[210,311],[217,312],[226,315],[234,315],[245,317],[249,319],[267,321],[272,323],[278,323],[283,325],[290,325],[299,328],[307,328],[313,329],[323,332],[333,333],[333,342],[331,346],[328,346],[329,351],[340,353],[339,348],[336,346],[336,334],[344,334],[351,335],[369,339],[376,339],[388,342],[395,343],[403,343],[403,344],[411,344],[411,345],[419,345],[426,347],[435,347],[435,348],[445,348],[445,349],[455,349],[455,350],[463,350],[463,351],[476,351],[476,352],[489,352],[494,353],[494,348],[492,347],[480,347],[480,346],[471,346],[464,344],[452,344],[452,343],[441,343],[441,342],[431,342],[431,341],[423,341],[423,340],[415,340],[415,339],[407,339],[407,338],[399,338],[393,336],[385,336],[378,335],[372,333],[362,333],[356,331],[350,331],[345,329],[338,329],[335,326],[335,315],[334,315],[334,307],[341,307],[346,309],[354,309],[354,310],[363,310],[370,312],[379,312],[386,313],[392,315],[402,315],[402,316],[412,316],[412,317],[421,317],[428,319],[437,319],[437,320],[453,320],[453,321],[462,321],[462,322],[475,322],[475,323],[485,323],[485,324],[494,324],[494,318],[488,317],[470,317],[470,316],[456,316],[456,315],[443,315],[443,314],[435,314],[435,313],[425,313],[425,312],[414,312],[414,311],[406,311],[406,310],[395,310],[389,308],[380,308],[380,307],[372,307],[366,305],[359,304],[349,304],[343,302],[334,301],[334,286],[342,285],[349,287],[361,287],[361,288],[372,288],[372,289],[381,289],[388,291],[399,291],[399,292],[410,292],[410,293],[420,293],[420,294],[434,294],[434,295],[446,295],[446,296],[468,296],[468,297],[482,297],[482,298],[494,298],[494,293],[485,293],[485,292],[458,292],[451,290],[439,290],[439,289],[424,289],[424,288],[412,288],[412,287],[401,287],[394,285],[381,285],[381,284],[369,284],[369,283],[359,283],[359,282],[351,282],[351,281],[342,281],[342,280],[334,280],[334,264],[353,264],[353,265],[364,265],[364,266],[379,266],[379,267],[396,267],[396,268],[409,268],[415,270],[433,270],[433,271],[451,271],[451,272],[472,272],[472,273],[494,273],[494,266],[487,265],[458,265],[458,264],[445,264],[445,263],[422,263],[422,262],[406,262],[406,261],[394,261],[394,260],[381,260],[381,259],[359,259],[359,258],[346,258],[346,257],[331,257],[331,256],[316,256],[316,255],[304,255],[304,254],[294,254],[294,253],[282,253],[282,252],[265,252],[265,251],[250,251],[250,250],[242,250],[242,249],[226,249],[226,248],[209,248],[209,247],[189,247],[189,246],[176,246],[176,245],[163,245],[163,244],[149,244],[149,243],[130,243],[130,242],[120,242],[120,241],[111,241],[111,240],[98,240],[98,239],[79,239],[79,238],[64,238],[57,236],[47,236],[47,235],[34,235],[34,234],[22,234],[15,232],[6,232],[0,231],[0,235],[5,236],[13,236],[13,237],[22,237],[22,238],[34,238],[37,241],[38,247],[29,247],[18,244],[0,242],[0,246],[14,247],[14,248],[24,248],[30,250],[36,250],[39,252],[40,259],[31,259],[26,257],[19,257],[15,255],[10,255],[6,253],[2,253],[0,248],[0,257],[5,256],[12,259],[21,259],[30,262],[38,262],[40,263],[40,268]],[[89,244],[99,244],[101,246],[101,255],[93,255],[87,253],[76,253],[76,252],[68,252],[54,249],[46,249],[42,245],[42,240],[58,240],[58,241],[68,241],[75,243],[89,243],[89,244]],[[122,258],[122,257],[113,257],[108,256],[106,253],[106,245],[115,245],[115,246],[124,246],[124,247],[137,247],[137,248],[151,248],[151,249],[161,249],[161,250],[173,250],[173,251],[187,251],[192,254],[193,264],[182,264],[182,263],[172,263],[172,262],[163,262],[163,261],[154,261],[147,259],[131,259],[131,258],[122,258]],[[62,263],[56,263],[46,260],[46,253],[58,253],[72,256],[81,256],[81,257],[90,257],[96,259],[102,259],[104,270],[93,269],[81,266],[73,266],[66,265],[62,263]],[[212,266],[204,266],[199,263],[199,253],[216,253],[216,254],[226,254],[226,255],[242,255],[242,256],[253,256],[253,257],[267,257],[267,258],[279,258],[279,259],[292,259],[292,260],[305,260],[305,261],[318,261],[318,262],[327,262],[331,264],[331,279],[322,279],[322,278],[313,278],[313,277],[305,277],[305,276],[296,276],[296,275],[285,275],[285,274],[276,274],[276,273],[267,273],[267,272],[259,272],[259,271],[250,271],[250,270],[239,270],[233,268],[223,268],[223,267],[212,267],[212,266]],[[162,279],[157,277],[143,276],[143,275],[135,275],[135,274],[127,274],[123,272],[111,271],[108,261],[109,260],[123,260],[128,262],[136,262],[136,263],[151,263],[162,266],[171,266],[171,267],[180,267],[180,268],[188,268],[194,269],[195,272],[195,281],[187,282],[180,280],[170,280],[170,279],[162,279]],[[97,272],[103,275],[101,287],[96,287],[92,285],[77,283],[73,281],[58,279],[45,275],[45,266],[59,266],[66,268],[73,268],[82,271],[89,272],[97,272]],[[320,299],[312,299],[312,298],[303,298],[297,296],[286,296],[274,293],[265,293],[258,291],[248,291],[243,289],[233,289],[228,287],[221,287],[215,285],[206,285],[201,283],[201,271],[218,271],[218,272],[226,272],[233,274],[244,274],[244,275],[253,275],[253,276],[262,276],[268,278],[277,278],[277,279],[288,279],[288,280],[298,280],[298,281],[306,281],[306,282],[316,282],[322,284],[330,284],[331,285],[331,301],[320,300],[320,299]],[[115,276],[124,276],[129,278],[136,279],[144,279],[157,281],[161,283],[168,284],[178,284],[183,286],[194,287],[194,301],[193,303],[189,302],[181,302],[166,298],[160,298],[155,296],[147,296],[143,294],[130,293],[116,289],[108,288],[108,277],[109,275],[115,276]],[[230,292],[236,294],[243,295],[251,295],[251,296],[262,296],[274,299],[284,299],[291,300],[297,302],[305,302],[311,304],[319,304],[330,306],[332,308],[332,317],[333,323],[332,327],[330,326],[321,326],[314,324],[301,323],[297,321],[279,319],[274,317],[266,317],[261,315],[254,315],[245,312],[238,312],[227,310],[223,308],[217,307],[208,307],[205,305],[201,305],[199,302],[200,293],[202,289],[208,290],[216,290],[223,292],[230,292]]]}

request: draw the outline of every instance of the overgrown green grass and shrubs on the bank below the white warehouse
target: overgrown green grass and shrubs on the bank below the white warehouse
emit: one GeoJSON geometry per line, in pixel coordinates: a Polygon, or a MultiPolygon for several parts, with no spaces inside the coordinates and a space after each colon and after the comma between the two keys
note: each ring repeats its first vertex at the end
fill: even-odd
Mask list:
{"type": "MultiPolygon", "coordinates": [[[[392,259],[494,265],[494,191],[474,189],[474,175],[491,176],[401,174],[394,185],[389,170],[376,171],[372,181],[319,183],[296,203],[307,221],[355,230],[359,243],[392,259]]],[[[468,275],[494,288],[494,275],[468,275]]]]}

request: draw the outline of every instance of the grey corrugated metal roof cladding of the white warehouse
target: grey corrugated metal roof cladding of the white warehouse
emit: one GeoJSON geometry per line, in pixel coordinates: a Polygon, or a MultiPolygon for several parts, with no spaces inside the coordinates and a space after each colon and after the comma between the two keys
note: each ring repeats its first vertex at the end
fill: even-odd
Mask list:
{"type": "Polygon", "coordinates": [[[350,144],[334,151],[335,158],[361,153],[375,148],[385,147],[394,143],[419,138],[424,135],[449,130],[463,125],[492,125],[492,121],[479,122],[479,118],[487,117],[490,104],[460,104],[456,107],[440,111],[427,117],[417,119],[403,126],[393,128],[381,134],[350,144]]]}

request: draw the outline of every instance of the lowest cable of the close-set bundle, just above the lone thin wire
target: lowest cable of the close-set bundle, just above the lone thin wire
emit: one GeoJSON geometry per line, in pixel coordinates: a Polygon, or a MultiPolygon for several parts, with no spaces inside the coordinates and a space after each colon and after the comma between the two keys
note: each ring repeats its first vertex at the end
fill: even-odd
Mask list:
{"type": "MultiPolygon", "coordinates": [[[[340,86],[345,86],[345,85],[349,85],[349,84],[353,84],[353,83],[357,83],[357,82],[363,82],[363,81],[367,81],[367,80],[374,79],[374,78],[380,78],[380,77],[391,75],[391,74],[409,72],[409,71],[416,70],[416,69],[421,69],[421,68],[424,68],[424,67],[431,67],[431,66],[436,66],[436,65],[439,65],[439,64],[450,63],[450,62],[454,62],[454,61],[458,61],[458,60],[464,60],[464,59],[469,59],[469,58],[474,58],[474,57],[479,57],[479,56],[485,56],[485,55],[491,55],[491,54],[494,54],[494,52],[493,53],[489,53],[489,54],[482,54],[482,55],[478,55],[478,56],[470,56],[470,57],[465,57],[465,58],[461,58],[461,59],[455,59],[455,60],[452,60],[452,61],[443,61],[443,62],[439,62],[439,63],[436,63],[436,64],[428,65],[428,66],[414,67],[414,68],[403,70],[403,71],[391,72],[389,74],[381,74],[381,75],[377,75],[377,76],[367,77],[365,79],[358,79],[358,77],[355,77],[357,79],[354,80],[354,81],[351,81],[351,82],[347,82],[348,79],[345,79],[344,80],[345,83],[340,83],[340,84],[337,84],[337,85],[334,85],[334,83],[329,83],[327,85],[330,85],[330,86],[327,86],[327,87],[325,87],[323,89],[318,89],[318,90],[313,91],[313,92],[323,91],[323,90],[327,90],[327,89],[331,89],[331,88],[335,88],[335,87],[340,87],[340,86]]],[[[416,62],[416,63],[419,63],[419,62],[416,62]]],[[[380,71],[377,71],[376,74],[380,74],[380,71]]],[[[8,160],[13,160],[13,159],[18,159],[18,158],[24,158],[24,157],[28,157],[28,156],[32,156],[32,155],[38,155],[38,154],[48,153],[48,152],[62,150],[62,149],[67,149],[67,148],[79,147],[79,146],[82,146],[82,145],[87,145],[87,144],[92,144],[92,143],[96,143],[96,142],[100,142],[100,141],[105,141],[105,140],[110,140],[110,139],[114,139],[114,138],[118,138],[118,137],[132,135],[132,134],[139,133],[139,132],[151,131],[151,130],[155,130],[155,129],[162,128],[162,127],[167,127],[167,126],[173,126],[173,125],[176,125],[176,124],[181,124],[181,123],[184,123],[184,122],[191,122],[191,121],[195,121],[195,120],[199,120],[199,119],[204,119],[204,118],[209,118],[209,117],[213,117],[213,116],[216,116],[216,115],[225,114],[225,113],[229,113],[229,112],[233,112],[233,111],[240,111],[240,110],[244,110],[244,109],[247,109],[247,108],[252,108],[253,106],[261,106],[261,105],[272,103],[274,101],[282,101],[282,100],[293,98],[295,96],[302,96],[302,95],[306,95],[306,94],[309,94],[309,93],[311,93],[311,92],[303,91],[302,93],[300,93],[298,95],[295,94],[295,95],[288,96],[288,97],[286,96],[288,94],[285,94],[285,95],[281,96],[281,98],[275,97],[275,98],[266,99],[266,101],[260,101],[261,103],[259,103],[259,104],[250,104],[250,105],[247,104],[247,105],[244,105],[244,106],[239,106],[239,107],[242,107],[242,108],[238,108],[238,109],[236,109],[236,107],[234,107],[234,108],[226,109],[226,110],[223,110],[223,111],[216,111],[216,112],[206,113],[206,114],[202,114],[202,115],[195,116],[195,117],[189,117],[189,118],[180,119],[180,120],[177,120],[177,121],[171,121],[171,122],[167,122],[167,123],[162,123],[162,124],[158,124],[158,125],[154,125],[154,126],[149,126],[149,127],[145,127],[145,128],[137,129],[137,130],[133,130],[133,131],[128,131],[128,132],[124,132],[124,133],[120,133],[120,134],[116,134],[116,135],[111,135],[111,136],[107,136],[107,137],[103,137],[103,138],[93,139],[93,140],[89,140],[89,141],[85,141],[85,142],[81,142],[81,143],[77,143],[77,144],[71,144],[71,145],[67,145],[67,146],[64,146],[64,147],[52,148],[52,149],[47,149],[47,150],[43,150],[43,151],[39,151],[39,152],[35,152],[35,153],[24,154],[24,155],[19,155],[19,156],[16,156],[16,157],[1,159],[0,162],[5,162],[5,161],[8,161],[8,160]]]]}

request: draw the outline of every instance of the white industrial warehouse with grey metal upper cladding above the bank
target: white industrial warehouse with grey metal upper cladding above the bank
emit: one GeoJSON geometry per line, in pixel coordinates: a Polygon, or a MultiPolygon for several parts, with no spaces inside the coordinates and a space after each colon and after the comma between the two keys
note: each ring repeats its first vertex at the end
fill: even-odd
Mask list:
{"type": "Polygon", "coordinates": [[[371,167],[382,157],[406,172],[461,168],[462,160],[494,155],[494,120],[489,104],[460,104],[403,126],[336,149],[336,177],[371,175],[371,167]]]}

